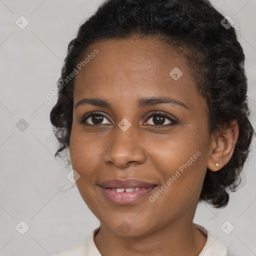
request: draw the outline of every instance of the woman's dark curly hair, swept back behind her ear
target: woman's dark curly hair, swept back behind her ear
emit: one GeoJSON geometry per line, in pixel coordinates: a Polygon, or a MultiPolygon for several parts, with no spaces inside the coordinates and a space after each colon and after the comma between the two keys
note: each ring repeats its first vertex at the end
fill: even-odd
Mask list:
{"type": "Polygon", "coordinates": [[[225,27],[223,20],[229,24],[208,0],[104,1],[68,44],[57,81],[57,102],[50,112],[59,143],[55,157],[69,148],[74,86],[69,75],[84,58],[88,45],[131,36],[157,37],[185,56],[191,77],[209,108],[209,135],[237,120],[239,134],[232,157],[218,171],[207,169],[199,197],[214,207],[225,206],[229,200],[227,188],[235,191],[241,181],[254,130],[248,119],[244,53],[235,29],[225,27]]]}

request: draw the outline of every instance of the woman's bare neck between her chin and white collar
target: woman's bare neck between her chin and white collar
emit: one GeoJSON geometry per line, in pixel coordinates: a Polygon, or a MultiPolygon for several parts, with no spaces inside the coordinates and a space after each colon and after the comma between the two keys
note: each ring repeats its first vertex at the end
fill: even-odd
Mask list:
{"type": "Polygon", "coordinates": [[[192,221],[171,221],[140,236],[119,236],[101,222],[94,242],[102,256],[189,255],[197,256],[207,237],[192,221]]]}

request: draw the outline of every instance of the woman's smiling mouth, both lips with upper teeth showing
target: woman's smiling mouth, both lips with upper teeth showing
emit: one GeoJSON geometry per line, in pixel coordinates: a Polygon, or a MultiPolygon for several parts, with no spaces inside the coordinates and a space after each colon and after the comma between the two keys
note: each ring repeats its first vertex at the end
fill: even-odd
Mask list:
{"type": "Polygon", "coordinates": [[[112,179],[102,182],[99,186],[109,202],[124,205],[145,198],[157,187],[157,184],[138,179],[112,179]]]}

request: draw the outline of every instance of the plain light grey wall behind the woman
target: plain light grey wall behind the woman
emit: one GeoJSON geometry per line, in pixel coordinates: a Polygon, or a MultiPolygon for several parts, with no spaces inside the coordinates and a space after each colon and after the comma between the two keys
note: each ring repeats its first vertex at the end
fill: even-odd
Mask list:
{"type": "MultiPolygon", "coordinates": [[[[256,0],[211,2],[234,20],[246,55],[255,126],[256,0]]],[[[68,42],[100,3],[0,0],[0,255],[53,255],[82,241],[99,225],[66,178],[71,169],[53,157],[57,147],[49,112],[56,96],[48,100],[46,94],[56,86],[68,42]],[[15,24],[21,15],[29,21],[24,29],[15,24]],[[21,118],[28,123],[23,131],[16,126],[21,118]],[[29,226],[24,234],[17,231],[24,228],[21,220],[29,226]]],[[[200,203],[195,213],[194,222],[221,240],[231,255],[256,255],[254,141],[243,183],[230,194],[228,206],[215,209],[200,203]],[[225,221],[229,222],[222,225],[225,221]],[[231,225],[234,229],[226,234],[223,226],[230,230],[231,225]]]]}

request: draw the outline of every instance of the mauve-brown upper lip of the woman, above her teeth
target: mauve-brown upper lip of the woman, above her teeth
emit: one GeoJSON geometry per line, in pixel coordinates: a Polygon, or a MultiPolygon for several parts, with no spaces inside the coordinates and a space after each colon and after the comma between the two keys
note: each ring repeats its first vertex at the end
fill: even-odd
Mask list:
{"type": "Polygon", "coordinates": [[[109,179],[104,182],[101,182],[99,185],[104,188],[131,188],[131,187],[135,188],[135,187],[153,187],[156,184],[142,181],[139,179],[126,179],[126,180],[109,179]]]}

